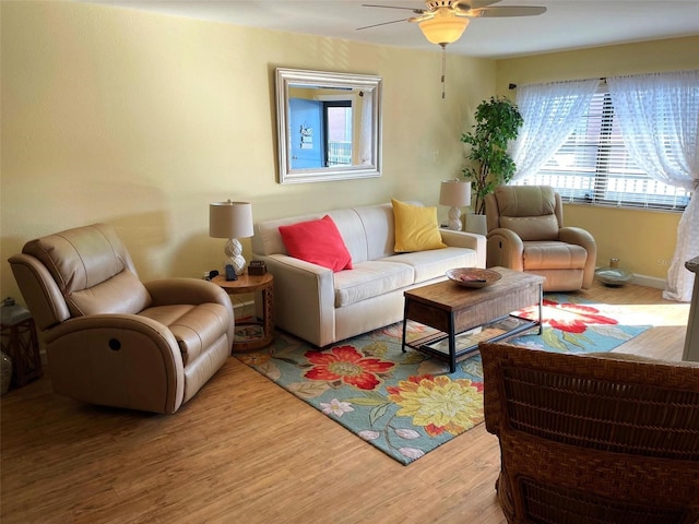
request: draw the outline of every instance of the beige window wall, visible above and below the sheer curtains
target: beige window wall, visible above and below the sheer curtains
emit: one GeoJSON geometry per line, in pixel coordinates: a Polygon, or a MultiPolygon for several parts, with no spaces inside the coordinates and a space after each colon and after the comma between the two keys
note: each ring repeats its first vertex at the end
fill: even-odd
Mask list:
{"type": "MultiPolygon", "coordinates": [[[[699,69],[699,36],[601,47],[500,60],[498,93],[514,97],[510,83],[532,84],[561,80],[699,69]]],[[[620,259],[629,271],[664,281],[676,243],[680,214],[566,205],[569,226],[580,226],[597,241],[597,264],[620,259]]],[[[651,284],[651,282],[648,282],[651,284]]]]}

